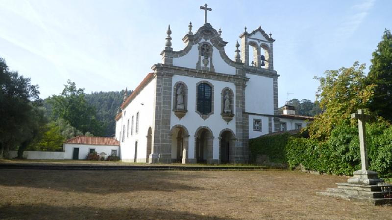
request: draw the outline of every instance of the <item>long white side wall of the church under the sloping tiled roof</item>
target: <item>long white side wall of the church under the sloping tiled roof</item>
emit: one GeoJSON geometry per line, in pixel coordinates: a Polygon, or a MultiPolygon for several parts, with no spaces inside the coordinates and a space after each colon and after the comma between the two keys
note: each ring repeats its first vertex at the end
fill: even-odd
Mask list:
{"type": "Polygon", "coordinates": [[[116,122],[116,139],[120,141],[121,159],[125,162],[134,162],[135,143],[138,142],[136,158],[147,158],[147,132],[151,127],[154,131],[155,118],[155,89],[156,78],[152,79],[145,88],[122,111],[122,117],[116,122]],[[143,104],[143,105],[142,105],[143,104]],[[136,115],[139,112],[139,131],[136,133],[136,115]],[[125,115],[124,115],[125,113],[125,115]],[[134,116],[133,134],[131,134],[132,116],[134,116]],[[129,135],[127,121],[129,119],[129,135]],[[123,126],[125,136],[123,139],[123,126]],[[121,139],[120,139],[121,132],[121,139]],[[117,137],[119,135],[119,137],[117,137]],[[123,141],[124,140],[124,141],[123,141]]]}

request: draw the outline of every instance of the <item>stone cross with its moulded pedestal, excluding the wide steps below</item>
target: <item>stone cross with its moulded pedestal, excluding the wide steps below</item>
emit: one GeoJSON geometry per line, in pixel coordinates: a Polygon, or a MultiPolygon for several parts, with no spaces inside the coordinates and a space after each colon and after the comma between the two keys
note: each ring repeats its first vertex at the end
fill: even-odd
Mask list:
{"type": "Polygon", "coordinates": [[[379,182],[384,182],[384,180],[378,178],[376,172],[368,170],[365,124],[369,116],[365,114],[364,110],[360,109],[357,110],[357,113],[351,114],[351,118],[358,119],[359,146],[361,152],[361,170],[355,171],[353,173],[353,177],[349,178],[347,182],[365,185],[376,185],[379,182]]]}

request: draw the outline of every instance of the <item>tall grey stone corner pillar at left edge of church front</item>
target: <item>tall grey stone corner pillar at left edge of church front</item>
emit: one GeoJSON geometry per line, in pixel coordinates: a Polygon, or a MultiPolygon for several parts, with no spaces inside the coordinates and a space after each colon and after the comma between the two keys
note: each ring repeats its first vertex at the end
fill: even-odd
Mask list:
{"type": "Polygon", "coordinates": [[[157,70],[152,163],[172,162],[171,107],[172,73],[157,70]]]}

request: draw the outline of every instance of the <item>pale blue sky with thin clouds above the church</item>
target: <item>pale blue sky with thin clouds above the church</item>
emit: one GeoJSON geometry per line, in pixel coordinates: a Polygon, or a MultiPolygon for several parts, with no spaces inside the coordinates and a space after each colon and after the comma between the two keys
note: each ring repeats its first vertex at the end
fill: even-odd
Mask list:
{"type": "Polygon", "coordinates": [[[92,91],[134,89],[161,62],[168,24],[172,47],[204,23],[221,28],[234,59],[235,42],[259,25],[276,39],[279,106],[315,100],[314,76],[327,69],[370,65],[384,28],[392,29],[391,0],[0,0],[0,57],[40,86],[59,94],[67,79],[92,91]]]}

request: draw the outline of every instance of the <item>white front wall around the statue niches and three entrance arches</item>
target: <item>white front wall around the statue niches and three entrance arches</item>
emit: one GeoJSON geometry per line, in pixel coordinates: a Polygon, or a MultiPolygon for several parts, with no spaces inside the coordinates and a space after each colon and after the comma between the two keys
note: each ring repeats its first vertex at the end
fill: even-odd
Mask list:
{"type": "MultiPolygon", "coordinates": [[[[223,88],[231,88],[233,93],[236,93],[234,83],[215,81],[209,79],[200,79],[194,77],[173,75],[172,78],[172,88],[174,87],[176,82],[183,82],[188,87],[188,112],[186,115],[180,119],[175,116],[174,112],[171,114],[171,128],[175,125],[183,125],[189,132],[189,146],[188,146],[188,157],[195,158],[195,132],[197,128],[200,126],[206,126],[211,129],[213,132],[213,159],[219,159],[219,134],[224,129],[230,129],[234,133],[236,132],[236,118],[234,116],[233,120],[231,120],[228,124],[226,121],[222,119],[221,116],[221,91],[223,88]],[[206,120],[200,117],[198,113],[196,113],[196,84],[200,81],[208,81],[214,86],[214,114],[210,115],[206,120]]],[[[235,95],[234,100],[235,103],[235,95]]],[[[235,108],[234,108],[234,114],[235,108]]],[[[175,148],[173,148],[175,149],[175,148]]],[[[172,153],[172,158],[175,158],[175,154],[172,153]]]]}

